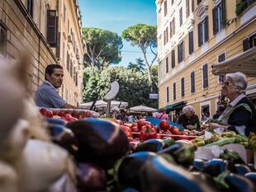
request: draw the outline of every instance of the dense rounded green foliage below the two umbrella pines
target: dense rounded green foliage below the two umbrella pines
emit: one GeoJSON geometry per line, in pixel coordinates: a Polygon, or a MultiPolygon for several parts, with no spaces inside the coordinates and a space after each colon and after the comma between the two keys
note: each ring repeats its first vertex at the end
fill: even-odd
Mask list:
{"type": "MultiPolygon", "coordinates": [[[[154,70],[153,70],[154,71],[154,70]]],[[[148,105],[154,108],[158,107],[157,100],[149,100],[149,81],[146,75],[141,75],[140,72],[127,69],[125,67],[110,67],[104,68],[101,72],[97,71],[94,77],[89,76],[88,68],[84,71],[85,77],[89,77],[87,82],[84,82],[84,101],[94,101],[102,99],[109,91],[111,82],[118,82],[120,90],[116,96],[118,101],[126,101],[129,106],[148,105]]],[[[157,75],[157,73],[152,73],[157,75]]],[[[154,85],[157,90],[157,77],[154,85]]]]}

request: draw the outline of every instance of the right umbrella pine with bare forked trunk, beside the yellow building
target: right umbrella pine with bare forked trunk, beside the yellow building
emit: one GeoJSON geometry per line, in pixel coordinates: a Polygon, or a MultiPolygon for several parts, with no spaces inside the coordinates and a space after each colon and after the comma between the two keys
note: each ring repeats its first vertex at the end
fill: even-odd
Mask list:
{"type": "Polygon", "coordinates": [[[149,79],[149,89],[153,92],[153,82],[152,82],[152,65],[157,59],[157,53],[154,48],[157,47],[157,27],[149,26],[145,24],[137,24],[135,26],[130,26],[122,32],[122,38],[130,41],[133,46],[138,46],[145,59],[145,63],[148,69],[148,79],[149,79]],[[150,50],[154,54],[154,59],[149,62],[147,58],[147,50],[150,50]]]}

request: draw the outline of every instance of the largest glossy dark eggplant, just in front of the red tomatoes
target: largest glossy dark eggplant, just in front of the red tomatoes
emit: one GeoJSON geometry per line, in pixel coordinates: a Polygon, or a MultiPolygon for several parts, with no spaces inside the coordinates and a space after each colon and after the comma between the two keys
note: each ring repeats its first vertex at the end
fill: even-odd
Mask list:
{"type": "Polygon", "coordinates": [[[108,169],[129,151],[126,133],[111,121],[81,119],[67,127],[78,138],[78,162],[93,162],[108,169]]]}

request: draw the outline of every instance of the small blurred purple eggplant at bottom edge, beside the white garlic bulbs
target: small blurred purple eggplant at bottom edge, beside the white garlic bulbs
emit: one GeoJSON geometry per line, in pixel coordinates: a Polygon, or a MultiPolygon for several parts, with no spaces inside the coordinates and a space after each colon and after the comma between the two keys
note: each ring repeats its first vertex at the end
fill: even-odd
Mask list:
{"type": "Polygon", "coordinates": [[[79,192],[93,192],[107,188],[106,172],[92,163],[79,163],[77,177],[79,192]]]}

